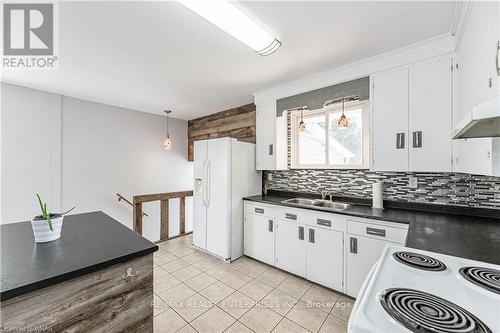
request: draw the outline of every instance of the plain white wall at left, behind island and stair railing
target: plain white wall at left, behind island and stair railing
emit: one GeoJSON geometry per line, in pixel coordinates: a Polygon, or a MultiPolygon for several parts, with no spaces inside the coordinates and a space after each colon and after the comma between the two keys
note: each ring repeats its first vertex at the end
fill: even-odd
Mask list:
{"type": "MultiPolygon", "coordinates": [[[[1,222],[30,219],[40,191],[53,210],[102,210],[132,228],[132,207],[116,193],[131,200],[192,189],[187,122],[173,119],[170,129],[172,150],[165,151],[162,116],[2,83],[1,222]],[[46,161],[42,148],[56,157],[46,161]]],[[[178,205],[170,204],[170,234],[178,232],[178,205]]],[[[159,204],[146,204],[144,211],[143,234],[157,240],[159,204]]],[[[190,230],[190,199],[186,223],[190,230]]]]}

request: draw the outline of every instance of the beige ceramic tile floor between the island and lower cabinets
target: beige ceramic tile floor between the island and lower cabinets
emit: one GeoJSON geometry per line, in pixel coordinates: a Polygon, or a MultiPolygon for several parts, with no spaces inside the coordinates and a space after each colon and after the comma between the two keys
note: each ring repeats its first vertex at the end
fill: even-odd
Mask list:
{"type": "Polygon", "coordinates": [[[154,254],[154,331],[347,332],[354,300],[248,257],[224,263],[192,235],[154,254]]]}

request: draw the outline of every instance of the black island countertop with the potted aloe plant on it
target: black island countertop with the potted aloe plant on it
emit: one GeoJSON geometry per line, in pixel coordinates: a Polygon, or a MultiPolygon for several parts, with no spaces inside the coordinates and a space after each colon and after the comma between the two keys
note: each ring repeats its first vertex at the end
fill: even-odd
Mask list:
{"type": "Polygon", "coordinates": [[[48,243],[35,243],[29,221],[0,233],[2,301],[158,250],[103,212],[65,216],[61,238],[48,243]]]}

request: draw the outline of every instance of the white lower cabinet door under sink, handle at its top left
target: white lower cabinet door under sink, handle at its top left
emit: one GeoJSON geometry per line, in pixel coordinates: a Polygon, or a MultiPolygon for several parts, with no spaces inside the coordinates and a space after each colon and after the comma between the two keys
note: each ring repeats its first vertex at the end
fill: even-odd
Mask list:
{"type": "Polygon", "coordinates": [[[338,231],[308,228],[307,279],[328,288],[342,290],[343,238],[338,231]]]}

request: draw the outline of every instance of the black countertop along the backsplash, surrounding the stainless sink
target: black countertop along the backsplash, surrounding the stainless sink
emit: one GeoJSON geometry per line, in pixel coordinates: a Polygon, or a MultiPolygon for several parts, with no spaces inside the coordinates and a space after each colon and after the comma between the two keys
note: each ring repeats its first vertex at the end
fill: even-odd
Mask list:
{"type": "MultiPolygon", "coordinates": [[[[300,195],[268,194],[248,197],[244,200],[320,210],[313,206],[298,207],[282,203],[283,200],[293,197],[300,197],[300,195]]],[[[336,198],[336,200],[342,201],[341,198],[336,198]]],[[[349,200],[343,201],[348,202],[349,200]]],[[[408,203],[408,207],[411,206],[412,204],[408,203]]],[[[415,206],[423,207],[423,205],[415,206]]],[[[451,213],[453,207],[446,207],[447,212],[443,213],[413,208],[376,209],[367,204],[353,203],[345,210],[330,212],[406,223],[409,225],[405,244],[408,247],[500,265],[500,211],[499,218],[493,218],[465,215],[462,209],[458,207],[456,209],[457,214],[453,214],[451,213]]]]}

